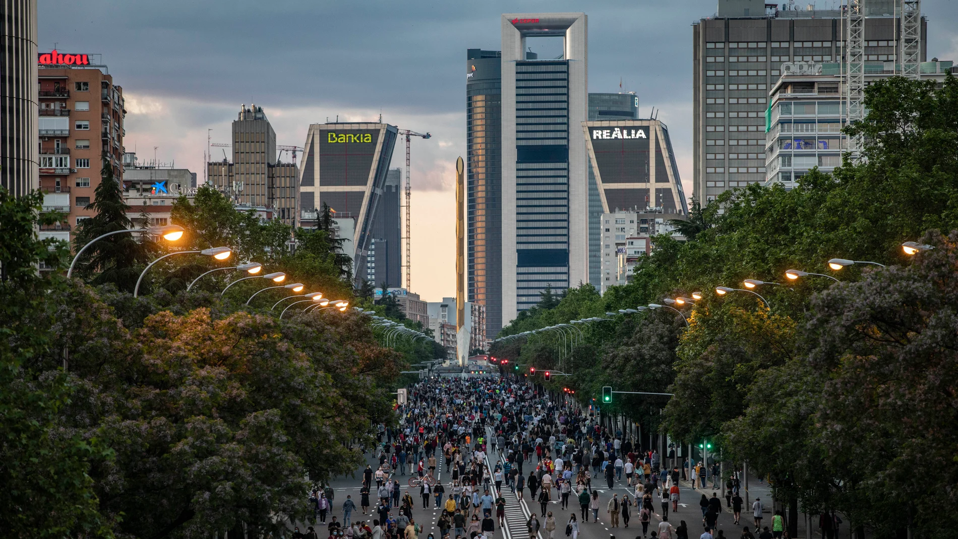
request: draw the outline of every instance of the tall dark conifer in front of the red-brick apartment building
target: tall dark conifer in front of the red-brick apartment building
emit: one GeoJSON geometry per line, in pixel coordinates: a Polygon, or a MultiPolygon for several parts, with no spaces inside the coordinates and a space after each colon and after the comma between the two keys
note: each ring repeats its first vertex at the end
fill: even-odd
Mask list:
{"type": "MultiPolygon", "coordinates": [[[[100,185],[93,193],[93,203],[87,208],[96,214],[80,221],[74,241],[77,252],[99,236],[133,226],[126,216],[130,208],[124,202],[123,187],[114,178],[113,165],[106,157],[100,185]]],[[[149,258],[148,246],[137,239],[131,234],[104,237],[87,249],[74,271],[94,284],[112,282],[119,289],[132,292],[149,258]]]]}

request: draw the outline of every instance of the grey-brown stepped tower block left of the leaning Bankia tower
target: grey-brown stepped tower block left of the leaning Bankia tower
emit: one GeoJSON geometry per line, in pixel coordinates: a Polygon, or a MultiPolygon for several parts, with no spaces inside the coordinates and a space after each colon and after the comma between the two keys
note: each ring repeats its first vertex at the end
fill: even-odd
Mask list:
{"type": "Polygon", "coordinates": [[[297,226],[299,168],[276,158],[276,131],[262,106],[239,107],[233,121],[233,161],[207,164],[207,177],[219,191],[242,207],[263,208],[288,225],[297,226]]]}

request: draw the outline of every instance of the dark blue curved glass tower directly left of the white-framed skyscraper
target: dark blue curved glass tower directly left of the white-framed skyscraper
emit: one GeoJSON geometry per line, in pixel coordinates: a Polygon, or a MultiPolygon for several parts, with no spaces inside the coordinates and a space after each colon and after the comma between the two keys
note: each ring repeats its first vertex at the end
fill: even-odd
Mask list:
{"type": "Polygon", "coordinates": [[[466,285],[486,306],[490,338],[503,326],[501,56],[466,55],[466,285]]]}

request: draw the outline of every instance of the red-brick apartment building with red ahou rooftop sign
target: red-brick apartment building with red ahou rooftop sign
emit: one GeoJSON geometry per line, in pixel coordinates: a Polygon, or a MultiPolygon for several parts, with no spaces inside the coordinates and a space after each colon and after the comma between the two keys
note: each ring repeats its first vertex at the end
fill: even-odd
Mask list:
{"type": "Polygon", "coordinates": [[[56,225],[40,227],[40,237],[71,240],[73,227],[93,216],[86,207],[95,198],[104,164],[113,168],[115,181],[123,181],[123,88],[113,83],[98,59],[52,51],[35,60],[43,210],[66,213],[56,225]]]}

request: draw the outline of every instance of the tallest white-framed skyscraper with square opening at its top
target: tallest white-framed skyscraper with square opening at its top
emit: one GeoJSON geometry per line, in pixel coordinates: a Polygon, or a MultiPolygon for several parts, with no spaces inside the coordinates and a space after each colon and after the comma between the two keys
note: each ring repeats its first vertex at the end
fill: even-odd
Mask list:
{"type": "Polygon", "coordinates": [[[503,14],[502,321],[588,281],[584,13],[503,14]],[[562,39],[556,59],[527,59],[527,41],[562,39]]]}

